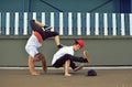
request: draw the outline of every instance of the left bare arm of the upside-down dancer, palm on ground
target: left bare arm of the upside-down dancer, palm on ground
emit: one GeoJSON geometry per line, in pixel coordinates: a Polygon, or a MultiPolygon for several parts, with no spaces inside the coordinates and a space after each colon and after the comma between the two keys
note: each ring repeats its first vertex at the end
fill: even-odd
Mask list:
{"type": "Polygon", "coordinates": [[[30,69],[31,75],[40,75],[40,73],[35,70],[35,64],[31,56],[29,56],[29,69],[30,69]]]}

